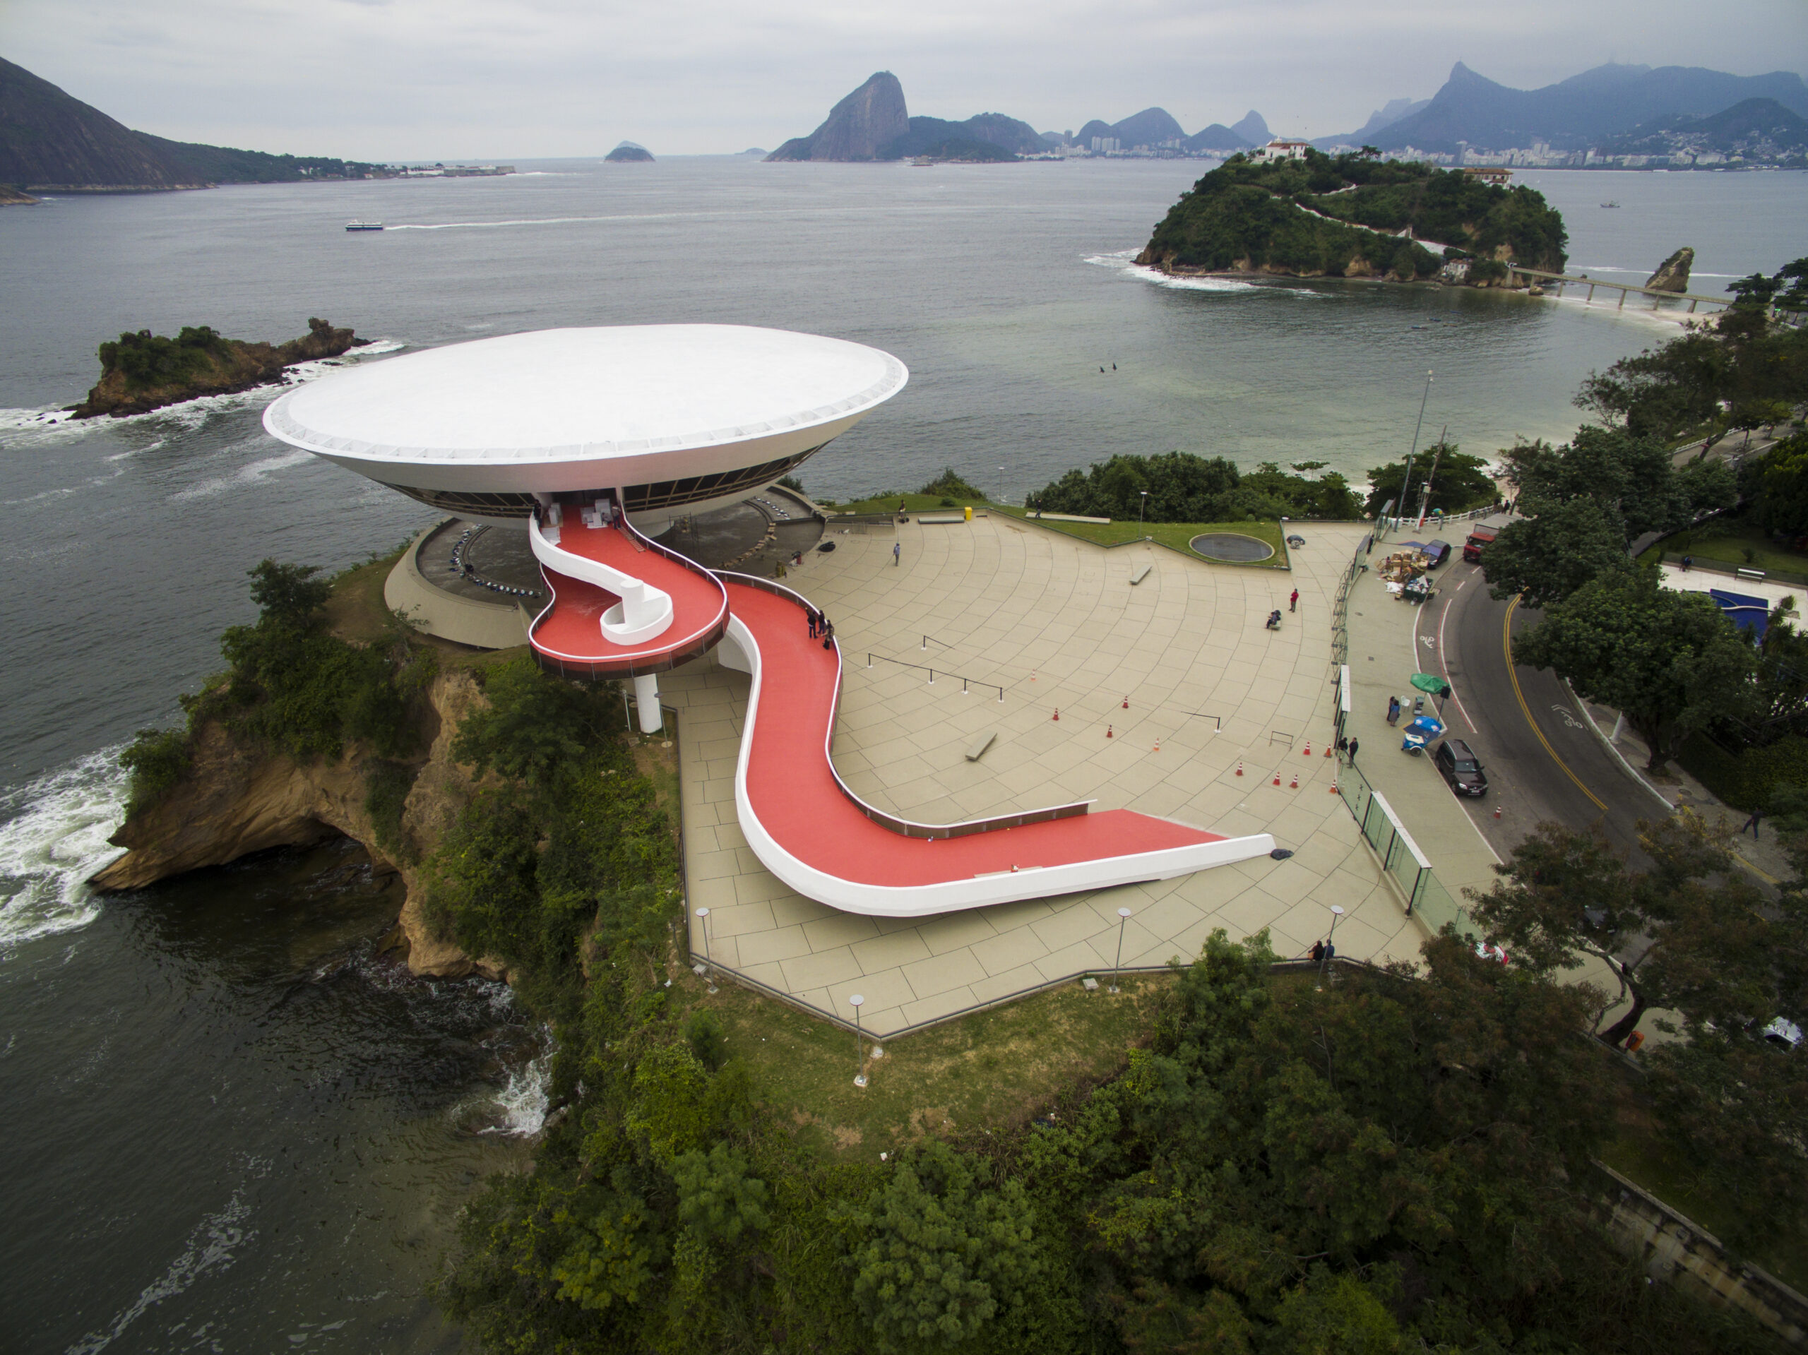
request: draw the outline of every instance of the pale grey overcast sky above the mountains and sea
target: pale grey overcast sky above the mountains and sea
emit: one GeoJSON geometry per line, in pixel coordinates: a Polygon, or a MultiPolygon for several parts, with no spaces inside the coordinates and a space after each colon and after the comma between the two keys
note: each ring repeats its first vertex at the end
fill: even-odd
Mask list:
{"type": "Polygon", "coordinates": [[[0,56],[127,126],[353,159],[776,146],[873,70],[1038,130],[1161,105],[1280,134],[1600,65],[1808,70],[1804,0],[0,0],[0,56]]]}

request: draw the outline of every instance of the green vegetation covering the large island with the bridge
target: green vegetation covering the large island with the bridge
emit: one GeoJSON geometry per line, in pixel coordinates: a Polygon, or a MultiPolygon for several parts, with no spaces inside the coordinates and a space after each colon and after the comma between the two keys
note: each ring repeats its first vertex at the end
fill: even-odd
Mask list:
{"type": "MultiPolygon", "coordinates": [[[[1443,255],[1412,238],[1526,267],[1562,271],[1562,217],[1530,188],[1484,184],[1461,170],[1378,161],[1365,154],[1253,163],[1235,155],[1188,190],[1155,228],[1139,262],[1188,269],[1271,269],[1307,276],[1437,273],[1443,255]]],[[[1504,267],[1497,266],[1504,275],[1504,267]]],[[[1472,269],[1475,280],[1486,267],[1472,269]]]]}

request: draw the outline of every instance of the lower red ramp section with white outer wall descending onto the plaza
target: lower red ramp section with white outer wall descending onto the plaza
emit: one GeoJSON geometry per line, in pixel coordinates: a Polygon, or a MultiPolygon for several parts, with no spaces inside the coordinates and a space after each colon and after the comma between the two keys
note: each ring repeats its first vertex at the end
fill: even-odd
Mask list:
{"type": "Polygon", "coordinates": [[[734,773],[741,831],[805,898],[846,912],[915,918],[1025,898],[1166,880],[1264,856],[1267,833],[1226,838],[1085,804],[971,824],[911,824],[868,806],[835,773],[830,743],[841,650],[808,634],[801,596],[721,575],[729,641],[752,692],[734,773]]]}

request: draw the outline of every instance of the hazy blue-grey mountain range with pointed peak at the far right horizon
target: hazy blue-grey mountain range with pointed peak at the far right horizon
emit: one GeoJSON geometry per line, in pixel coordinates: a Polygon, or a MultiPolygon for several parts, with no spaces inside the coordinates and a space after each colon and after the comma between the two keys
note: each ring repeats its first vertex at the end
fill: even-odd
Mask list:
{"type": "Polygon", "coordinates": [[[1475,150],[1511,150],[1537,141],[1582,150],[1640,123],[1680,114],[1707,117],[1754,98],[1808,114],[1808,85],[1786,70],[1728,76],[1701,67],[1602,65],[1557,85],[1517,90],[1457,61],[1425,108],[1389,123],[1369,141],[1381,150],[1417,146],[1446,154],[1455,152],[1459,141],[1475,150]]]}

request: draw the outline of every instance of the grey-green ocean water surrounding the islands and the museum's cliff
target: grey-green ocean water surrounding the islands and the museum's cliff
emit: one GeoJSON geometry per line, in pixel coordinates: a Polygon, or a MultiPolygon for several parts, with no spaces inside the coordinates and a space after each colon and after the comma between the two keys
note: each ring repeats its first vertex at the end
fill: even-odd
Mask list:
{"type": "MultiPolygon", "coordinates": [[[[69,423],[101,340],[325,316],[383,340],[371,361],[550,325],[810,329],[911,369],[803,470],[812,490],[953,464],[1020,497],[1168,448],[1360,481],[1405,452],[1427,370],[1427,437],[1564,437],[1587,370],[1674,332],[1611,305],[1135,269],[1197,163],[532,168],[0,211],[0,1348],[452,1348],[423,1285],[472,1182],[546,1111],[544,1032],[506,990],[380,958],[398,900],[345,846],[85,891],[123,813],[118,748],[219,667],[244,571],[340,567],[430,520],[266,437],[273,390],[69,423]]],[[[1719,291],[1801,253],[1808,175],[1524,179],[1595,276],[1690,244],[1719,291]]]]}

